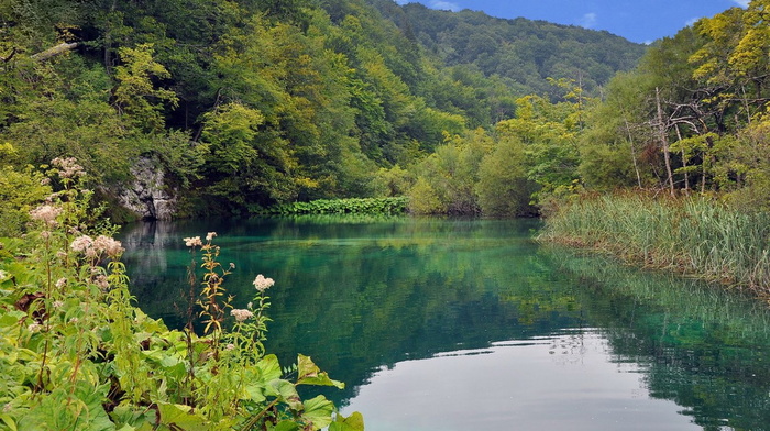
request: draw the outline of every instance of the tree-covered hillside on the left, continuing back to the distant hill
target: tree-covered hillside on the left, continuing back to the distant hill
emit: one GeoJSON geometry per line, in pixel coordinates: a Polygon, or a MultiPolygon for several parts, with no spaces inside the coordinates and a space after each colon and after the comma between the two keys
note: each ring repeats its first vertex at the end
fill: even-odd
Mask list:
{"type": "MultiPolygon", "coordinates": [[[[644,49],[389,0],[8,0],[0,29],[4,189],[76,157],[145,217],[405,194],[441,145],[644,49]]],[[[34,196],[2,196],[26,202],[6,225],[34,196]]]]}

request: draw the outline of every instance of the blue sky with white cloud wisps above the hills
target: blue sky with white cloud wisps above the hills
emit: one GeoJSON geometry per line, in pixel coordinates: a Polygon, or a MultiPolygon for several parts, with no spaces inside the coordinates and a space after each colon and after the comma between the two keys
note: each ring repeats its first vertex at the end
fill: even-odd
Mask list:
{"type": "Polygon", "coordinates": [[[557,24],[606,30],[631,42],[651,43],[673,36],[704,16],[729,8],[746,8],[749,0],[396,0],[419,2],[431,9],[483,11],[497,18],[524,16],[557,24]]]}

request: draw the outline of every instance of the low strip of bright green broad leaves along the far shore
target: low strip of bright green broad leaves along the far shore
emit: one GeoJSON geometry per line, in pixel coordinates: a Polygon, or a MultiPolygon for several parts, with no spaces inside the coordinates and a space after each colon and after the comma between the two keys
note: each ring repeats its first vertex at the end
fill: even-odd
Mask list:
{"type": "Polygon", "coordinates": [[[407,209],[405,197],[317,199],[284,203],[267,209],[270,214],[400,214],[407,209]]]}

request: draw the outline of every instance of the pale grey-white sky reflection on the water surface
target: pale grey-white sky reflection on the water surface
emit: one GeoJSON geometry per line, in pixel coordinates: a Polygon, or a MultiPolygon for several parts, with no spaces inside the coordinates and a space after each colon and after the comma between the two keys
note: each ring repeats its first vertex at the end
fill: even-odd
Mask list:
{"type": "Polygon", "coordinates": [[[642,367],[609,351],[584,330],[403,362],[377,371],[348,410],[381,431],[698,429],[649,398],[642,367]]]}

